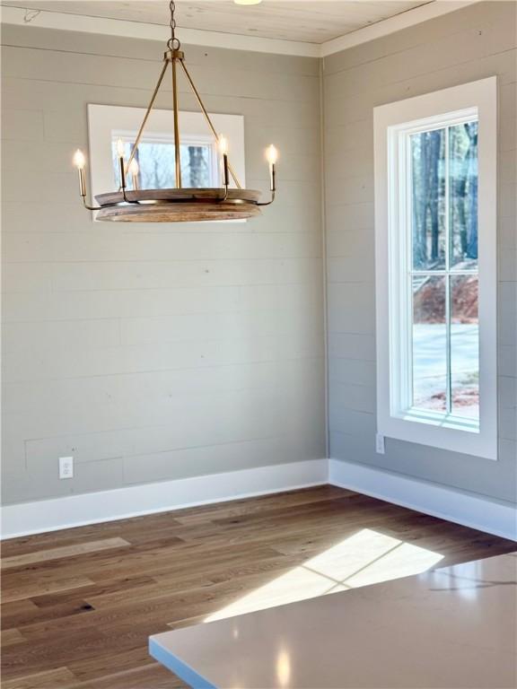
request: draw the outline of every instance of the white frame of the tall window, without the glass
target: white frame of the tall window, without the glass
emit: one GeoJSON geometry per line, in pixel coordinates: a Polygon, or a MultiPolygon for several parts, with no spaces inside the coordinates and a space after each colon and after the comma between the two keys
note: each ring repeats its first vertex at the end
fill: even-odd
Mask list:
{"type": "Polygon", "coordinates": [[[489,77],[374,108],[377,431],[497,459],[497,81],[489,77]],[[479,422],[408,408],[407,136],[478,119],[479,422]]]}

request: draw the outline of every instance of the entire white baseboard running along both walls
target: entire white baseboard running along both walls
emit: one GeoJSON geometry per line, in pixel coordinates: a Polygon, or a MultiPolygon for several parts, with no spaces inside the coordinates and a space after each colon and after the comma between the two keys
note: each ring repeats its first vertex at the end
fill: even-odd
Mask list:
{"type": "Polygon", "coordinates": [[[6,505],[1,509],[2,538],[30,536],[327,483],[517,540],[517,510],[510,503],[490,501],[473,493],[337,459],[311,459],[6,505]]]}

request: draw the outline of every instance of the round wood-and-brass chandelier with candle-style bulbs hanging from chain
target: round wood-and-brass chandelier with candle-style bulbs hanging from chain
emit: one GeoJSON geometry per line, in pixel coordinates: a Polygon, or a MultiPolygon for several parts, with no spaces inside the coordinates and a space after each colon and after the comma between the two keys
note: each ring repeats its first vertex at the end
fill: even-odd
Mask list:
{"type": "Polygon", "coordinates": [[[89,211],[98,211],[97,220],[125,222],[198,222],[205,220],[237,220],[251,218],[260,214],[260,206],[270,205],[275,200],[277,152],[274,145],[267,148],[269,164],[270,200],[261,202],[260,191],[245,189],[232,168],[228,159],[228,142],[216,132],[212,120],[201,100],[199,92],[192,81],[185,65],[184,53],[180,49],[180,40],[175,36],[175,4],[171,2],[171,38],[167,41],[167,50],[163,56],[162,72],[153,91],[149,106],[145,111],[142,125],[136,135],[135,143],[127,160],[124,144],[118,141],[117,157],[120,186],[116,191],[95,196],[98,205],[90,205],[86,200],[86,159],[81,150],[74,153],[74,165],[79,173],[79,193],[83,205],[89,211]],[[174,126],[174,188],[140,189],[136,184],[138,163],[136,153],[145,131],[147,119],[153,109],[154,101],[162,85],[163,77],[171,65],[172,73],[172,112],[174,126]],[[187,82],[196,97],[206,124],[215,136],[215,142],[221,158],[221,186],[215,188],[185,188],[181,185],[180,165],[180,112],[178,98],[178,66],[187,78],[187,82]],[[127,189],[127,176],[132,175],[132,189],[127,189]],[[230,188],[232,177],[234,188],[230,188]]]}

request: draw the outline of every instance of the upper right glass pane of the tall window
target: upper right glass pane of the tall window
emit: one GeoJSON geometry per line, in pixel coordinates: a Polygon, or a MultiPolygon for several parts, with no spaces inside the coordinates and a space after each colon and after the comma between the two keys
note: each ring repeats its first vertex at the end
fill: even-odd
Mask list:
{"type": "Polygon", "coordinates": [[[449,129],[451,267],[478,266],[478,122],[449,129]]]}

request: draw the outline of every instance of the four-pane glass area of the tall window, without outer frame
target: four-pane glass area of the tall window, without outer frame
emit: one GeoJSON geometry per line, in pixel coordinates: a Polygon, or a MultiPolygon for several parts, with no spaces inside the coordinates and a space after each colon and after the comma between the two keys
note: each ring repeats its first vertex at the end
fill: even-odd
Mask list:
{"type": "Polygon", "coordinates": [[[407,131],[412,390],[407,406],[479,419],[478,119],[407,131]]]}

